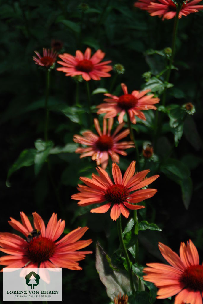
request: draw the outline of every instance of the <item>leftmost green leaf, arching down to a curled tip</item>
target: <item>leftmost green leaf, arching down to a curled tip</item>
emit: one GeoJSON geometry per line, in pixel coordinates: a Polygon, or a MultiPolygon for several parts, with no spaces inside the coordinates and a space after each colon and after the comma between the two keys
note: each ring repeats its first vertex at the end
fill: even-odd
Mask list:
{"type": "Polygon", "coordinates": [[[22,167],[29,167],[34,164],[34,159],[36,155],[35,149],[26,149],[21,152],[18,159],[14,162],[12,167],[8,170],[7,179],[6,179],[6,185],[7,187],[10,187],[10,183],[8,179],[13,174],[13,172],[19,170],[22,167]]]}

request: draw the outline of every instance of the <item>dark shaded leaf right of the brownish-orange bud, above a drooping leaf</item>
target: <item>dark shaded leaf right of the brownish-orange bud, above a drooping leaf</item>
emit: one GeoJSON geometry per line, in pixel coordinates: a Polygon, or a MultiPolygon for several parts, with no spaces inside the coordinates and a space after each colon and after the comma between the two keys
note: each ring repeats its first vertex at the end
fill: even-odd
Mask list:
{"type": "Polygon", "coordinates": [[[161,172],[177,183],[190,176],[188,167],[183,162],[174,158],[168,158],[167,162],[161,165],[161,172]]]}

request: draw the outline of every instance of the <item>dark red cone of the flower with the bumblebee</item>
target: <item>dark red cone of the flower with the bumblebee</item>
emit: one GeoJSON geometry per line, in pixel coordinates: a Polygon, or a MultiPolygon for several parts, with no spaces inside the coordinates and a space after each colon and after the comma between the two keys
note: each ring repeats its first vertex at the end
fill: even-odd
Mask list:
{"type": "Polygon", "coordinates": [[[36,237],[27,246],[27,255],[33,263],[49,260],[56,251],[56,244],[46,237],[36,237]]]}

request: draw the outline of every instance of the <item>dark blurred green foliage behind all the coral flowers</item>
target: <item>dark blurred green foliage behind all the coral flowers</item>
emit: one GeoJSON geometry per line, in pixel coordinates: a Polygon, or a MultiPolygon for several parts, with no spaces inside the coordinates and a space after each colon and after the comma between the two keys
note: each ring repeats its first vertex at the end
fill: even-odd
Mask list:
{"type": "MultiPolygon", "coordinates": [[[[73,55],[78,49],[84,52],[86,47],[90,47],[92,53],[101,49],[106,53],[105,59],[112,60],[113,65],[122,64],[125,73],[115,77],[112,71],[111,78],[90,81],[91,92],[96,88],[110,90],[115,81],[112,92],[116,95],[121,94],[120,83],[124,82],[129,92],[147,87],[160,96],[166,84],[156,75],[167,63],[163,50],[171,47],[173,20],[163,22],[134,8],[133,4],[130,0],[86,1],[88,6],[78,0],[0,1],[1,231],[12,232],[7,220],[10,216],[19,220],[20,211],[28,216],[36,211],[46,223],[52,212],[57,212],[59,218],[66,220],[65,233],[79,225],[90,228],[85,238],[93,239],[90,246],[93,254],[80,262],[83,271],[63,270],[63,300],[69,302],[80,303],[84,299],[89,303],[110,302],[96,272],[95,247],[99,241],[112,256],[118,246],[117,229],[109,212],[90,214],[91,208],[78,207],[70,199],[76,192],[79,177],[90,177],[96,167],[95,162],[88,158],[80,160],[74,153],[77,145],[73,143],[73,135],[89,127],[84,82],[79,84],[81,106],[76,107],[76,81],[62,72],[51,71],[49,139],[52,142],[47,155],[50,153],[58,197],[47,164],[42,162],[42,168],[34,171],[32,157],[15,164],[7,178],[21,152],[32,149],[29,153],[36,153],[34,142],[43,140],[45,73],[34,64],[32,56],[35,50],[42,53],[43,47],[50,48],[53,39],[63,43],[62,52],[73,55]],[[143,77],[147,71],[150,73],[143,77]],[[26,167],[20,168],[21,165],[26,167]]],[[[164,112],[161,114],[163,127],[158,134],[155,158],[147,160],[142,156],[143,143],[154,144],[155,111],[145,111],[147,121],[138,121],[134,126],[141,170],[149,168],[151,175],[160,174],[152,186],[158,189],[157,194],[138,212],[139,221],[155,222],[162,229],[162,232],[139,233],[142,265],[163,261],[158,241],[177,252],[180,242],[189,238],[197,246],[202,261],[202,16],[203,12],[198,12],[179,22],[176,68],[170,78],[174,86],[167,90],[167,107],[159,108],[159,115],[164,112]],[[196,113],[182,119],[181,106],[187,102],[195,105],[196,113]]],[[[102,102],[103,94],[93,94],[91,100],[96,117],[95,105],[102,102]]],[[[127,157],[120,157],[122,171],[134,160],[133,149],[127,152],[127,157]]],[[[123,219],[123,227],[127,221],[123,219]]],[[[155,303],[172,301],[156,300],[155,303]]]]}

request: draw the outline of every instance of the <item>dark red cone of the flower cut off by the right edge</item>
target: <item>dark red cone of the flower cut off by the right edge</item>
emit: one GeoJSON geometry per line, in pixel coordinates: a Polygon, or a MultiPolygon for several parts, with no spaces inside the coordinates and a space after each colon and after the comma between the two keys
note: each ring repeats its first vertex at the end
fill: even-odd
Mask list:
{"type": "Polygon", "coordinates": [[[186,288],[203,291],[203,266],[192,265],[185,269],[181,276],[181,282],[186,288]]]}

